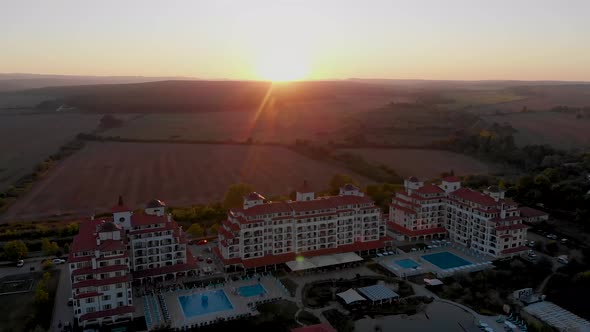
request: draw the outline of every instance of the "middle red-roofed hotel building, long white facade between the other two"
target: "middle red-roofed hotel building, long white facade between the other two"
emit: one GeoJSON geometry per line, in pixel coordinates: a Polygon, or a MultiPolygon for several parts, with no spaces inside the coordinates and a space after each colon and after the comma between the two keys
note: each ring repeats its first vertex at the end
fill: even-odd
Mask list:
{"type": "Polygon", "coordinates": [[[347,184],[337,196],[316,198],[304,183],[295,201],[245,196],[243,207],[231,209],[219,228],[216,252],[228,269],[264,271],[287,263],[294,270],[302,258],[332,255],[333,265],[360,258],[338,254],[387,246],[391,238],[385,234],[381,209],[357,187],[347,184]]]}

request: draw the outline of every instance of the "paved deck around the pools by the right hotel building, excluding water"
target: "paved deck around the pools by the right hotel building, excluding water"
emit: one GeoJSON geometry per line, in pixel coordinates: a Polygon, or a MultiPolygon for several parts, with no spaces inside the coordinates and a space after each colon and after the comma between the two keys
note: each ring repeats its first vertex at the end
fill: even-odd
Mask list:
{"type": "MultiPolygon", "coordinates": [[[[399,252],[399,251],[398,251],[399,252]]],[[[489,260],[489,257],[482,257],[471,253],[468,249],[460,246],[460,245],[447,245],[447,246],[437,246],[431,249],[423,249],[418,251],[411,251],[407,253],[398,253],[395,255],[377,257],[374,259],[378,262],[381,266],[385,267],[389,271],[393,272],[398,277],[410,277],[414,275],[424,274],[428,272],[434,273],[439,278],[444,278],[451,276],[458,272],[474,272],[474,271],[481,271],[487,269],[492,266],[492,262],[489,260]],[[441,269],[435,264],[428,262],[427,260],[423,259],[422,256],[429,255],[429,254],[436,254],[440,252],[448,251],[458,257],[461,257],[471,264],[464,265],[460,267],[450,268],[450,269],[441,269]],[[402,259],[411,259],[420,266],[416,268],[404,268],[395,263],[397,260],[402,259]]]]}

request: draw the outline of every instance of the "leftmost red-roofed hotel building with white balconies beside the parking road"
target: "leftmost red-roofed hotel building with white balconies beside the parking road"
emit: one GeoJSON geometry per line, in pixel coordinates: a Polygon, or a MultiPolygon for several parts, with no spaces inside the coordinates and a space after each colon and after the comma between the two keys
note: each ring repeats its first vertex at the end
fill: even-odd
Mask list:
{"type": "Polygon", "coordinates": [[[70,248],[74,317],[80,326],[131,320],[131,282],[151,282],[194,274],[197,264],[182,229],[158,200],[144,213],[123,205],[113,217],[80,225],[70,248]]]}

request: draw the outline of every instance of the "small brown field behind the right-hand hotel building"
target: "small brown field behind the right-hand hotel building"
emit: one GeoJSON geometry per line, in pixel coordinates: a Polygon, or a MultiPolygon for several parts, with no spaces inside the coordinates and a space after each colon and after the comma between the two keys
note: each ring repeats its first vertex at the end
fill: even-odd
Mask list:
{"type": "Polygon", "coordinates": [[[456,175],[488,173],[489,165],[462,154],[426,149],[341,149],[360,155],[365,160],[383,164],[403,177],[417,176],[423,180],[453,170],[456,175]]]}

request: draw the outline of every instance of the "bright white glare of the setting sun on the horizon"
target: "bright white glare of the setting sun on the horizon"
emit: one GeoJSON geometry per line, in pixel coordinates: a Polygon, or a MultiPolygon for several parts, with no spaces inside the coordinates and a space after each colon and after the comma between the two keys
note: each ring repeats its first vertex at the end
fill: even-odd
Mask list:
{"type": "Polygon", "coordinates": [[[307,77],[309,66],[304,56],[294,52],[271,52],[258,59],[256,74],[273,82],[297,81],[307,77]]]}

